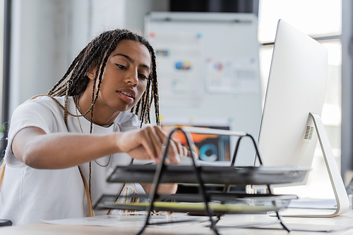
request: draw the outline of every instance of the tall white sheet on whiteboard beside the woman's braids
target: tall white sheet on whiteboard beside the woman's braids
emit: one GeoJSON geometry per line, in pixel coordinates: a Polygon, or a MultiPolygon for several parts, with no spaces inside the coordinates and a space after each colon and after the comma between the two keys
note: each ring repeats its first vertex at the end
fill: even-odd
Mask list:
{"type": "Polygon", "coordinates": [[[203,39],[196,33],[150,33],[157,57],[160,106],[197,106],[203,99],[203,39]]]}

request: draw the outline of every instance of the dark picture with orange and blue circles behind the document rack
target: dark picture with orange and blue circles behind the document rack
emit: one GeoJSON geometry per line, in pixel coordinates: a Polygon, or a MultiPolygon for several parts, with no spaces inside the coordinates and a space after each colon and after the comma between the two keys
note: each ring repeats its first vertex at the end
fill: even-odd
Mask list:
{"type": "MultiPolygon", "coordinates": [[[[162,125],[162,129],[166,132],[172,131],[175,127],[185,127],[186,125],[162,125]]],[[[205,126],[197,126],[205,127],[205,126]]],[[[229,127],[206,127],[210,129],[227,129],[229,127]]],[[[198,157],[205,162],[229,161],[229,136],[218,136],[215,134],[196,134],[191,133],[194,150],[198,157]]],[[[175,132],[173,138],[178,139],[180,143],[186,146],[186,138],[182,132],[175,132]]]]}

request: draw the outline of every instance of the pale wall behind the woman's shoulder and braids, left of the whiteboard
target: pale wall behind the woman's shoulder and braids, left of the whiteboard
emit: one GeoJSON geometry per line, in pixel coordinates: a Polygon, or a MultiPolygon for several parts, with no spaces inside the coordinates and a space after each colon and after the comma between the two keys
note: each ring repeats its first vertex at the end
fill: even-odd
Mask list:
{"type": "Polygon", "coordinates": [[[10,115],[45,94],[90,40],[125,25],[126,0],[14,0],[10,115]]]}

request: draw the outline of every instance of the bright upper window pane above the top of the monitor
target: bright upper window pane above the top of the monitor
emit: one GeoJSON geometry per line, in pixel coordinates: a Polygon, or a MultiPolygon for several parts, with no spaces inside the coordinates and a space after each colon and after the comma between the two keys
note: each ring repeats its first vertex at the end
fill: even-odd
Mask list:
{"type": "Polygon", "coordinates": [[[311,37],[340,35],[341,8],[341,0],[260,0],[258,41],[275,40],[279,19],[286,20],[311,37]]]}

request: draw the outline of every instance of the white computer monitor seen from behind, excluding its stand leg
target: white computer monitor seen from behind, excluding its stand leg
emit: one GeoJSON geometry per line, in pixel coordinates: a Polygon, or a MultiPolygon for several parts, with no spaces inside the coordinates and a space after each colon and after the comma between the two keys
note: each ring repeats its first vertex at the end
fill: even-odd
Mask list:
{"type": "Polygon", "coordinates": [[[280,20],[258,139],[263,165],[311,167],[317,135],[309,113],[321,115],[327,73],[325,47],[280,20]]]}

